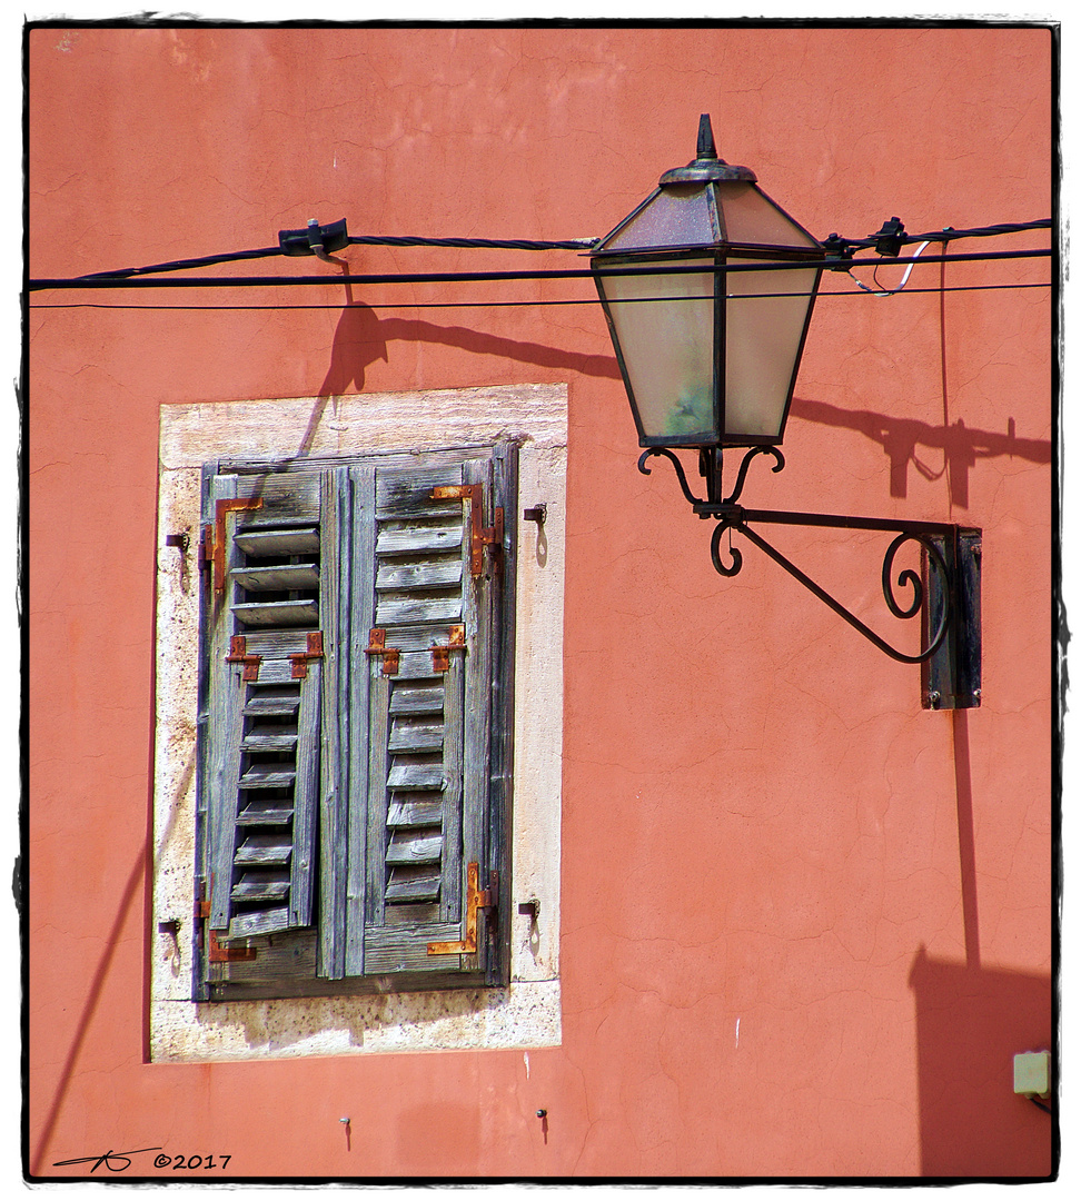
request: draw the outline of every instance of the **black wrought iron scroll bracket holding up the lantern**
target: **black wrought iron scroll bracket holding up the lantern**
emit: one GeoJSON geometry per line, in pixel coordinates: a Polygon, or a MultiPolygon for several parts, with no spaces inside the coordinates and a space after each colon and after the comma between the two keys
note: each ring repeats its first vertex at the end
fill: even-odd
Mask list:
{"type": "Polygon", "coordinates": [[[922,704],[925,709],[968,709],[980,704],[980,560],[981,532],[937,521],[904,521],[882,518],[848,516],[834,513],[790,513],[775,509],[749,509],[735,503],[747,477],[747,468],[758,454],[772,454],[777,472],[784,466],[775,447],[754,447],[740,465],[735,486],[729,496],[721,486],[721,452],[712,448],[700,452],[701,474],[706,478],[707,500],[695,497],[687,484],[682,464],[663,447],[651,447],[638,461],[639,471],[649,474],[646,460],[661,455],[675,467],[680,488],[693,512],[717,525],[710,540],[710,554],[716,570],[725,576],[737,575],[743,566],[739,548],[730,544],[727,557],[722,539],[725,531],[736,531],[752,542],[775,563],[804,585],[819,600],[834,610],[867,641],[898,663],[919,663],[922,667],[922,704]],[[921,651],[907,653],[892,646],[870,626],[847,609],[836,597],[796,567],[752,525],[811,526],[816,528],[862,530],[894,534],[882,562],[882,591],[894,617],[921,617],[921,651]],[[906,543],[922,550],[922,570],[906,568],[894,579],[894,561],[906,543]],[[898,597],[897,590],[908,590],[898,597]]]}

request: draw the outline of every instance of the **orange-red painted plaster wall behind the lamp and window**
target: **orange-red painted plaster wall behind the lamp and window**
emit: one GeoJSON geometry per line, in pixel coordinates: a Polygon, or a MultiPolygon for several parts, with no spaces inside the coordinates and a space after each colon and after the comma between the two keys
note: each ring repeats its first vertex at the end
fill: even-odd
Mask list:
{"type": "MultiPolygon", "coordinates": [[[[1047,30],[1007,28],[36,28],[30,274],[273,245],[312,216],[599,235],[693,156],[701,112],[818,237],[894,214],[913,232],[1031,221],[1051,214],[1051,52],[1047,30]]],[[[1049,1172],[1051,1119],[1013,1095],[1011,1058],[1052,1039],[1052,301],[915,291],[943,276],[1046,282],[1050,265],[926,267],[894,299],[823,298],[788,466],[753,473],[745,500],[984,528],[985,703],[956,717],[922,711],[918,669],[753,548],[737,578],[712,570],[667,466],[635,471],[596,305],[342,318],[220,307],[334,305],[338,285],[36,293],[32,1171],[163,1145],[261,1177],[1049,1172]],[[161,406],[515,382],[569,384],[562,1046],[528,1075],[520,1052],[147,1063],[161,406]]],[[[776,540],[888,628],[880,544],[776,540]]]]}

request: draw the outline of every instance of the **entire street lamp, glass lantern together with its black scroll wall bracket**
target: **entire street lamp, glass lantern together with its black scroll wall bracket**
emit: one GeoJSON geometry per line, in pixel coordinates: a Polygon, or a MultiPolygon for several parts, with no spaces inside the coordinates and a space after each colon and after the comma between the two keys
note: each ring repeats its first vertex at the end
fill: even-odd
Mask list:
{"type": "MultiPolygon", "coordinates": [[[[885,227],[883,227],[885,229],[885,227]]],[[[880,252],[896,256],[884,239],[880,252]]],[[[668,459],[693,512],[717,524],[713,567],[733,576],[742,555],[721,539],[736,531],[843,617],[880,651],[921,664],[925,709],[980,704],[980,531],[936,521],[895,521],[828,513],[748,509],[739,502],[757,455],[784,467],[780,444],[792,406],[822,271],[847,259],[826,247],[757,185],[747,167],[717,157],[710,118],[698,127],[695,157],[665,172],[657,189],[590,251],[616,360],[644,447],[668,459]],[[743,450],[725,495],[725,449],[743,450]],[[704,498],[691,491],[676,450],[697,450],[704,498]],[[819,587],[762,534],[758,525],[868,530],[895,537],[883,557],[882,587],[890,613],[921,619],[921,650],[897,650],[819,587]],[[922,570],[900,572],[906,543],[922,550],[922,570]]]]}

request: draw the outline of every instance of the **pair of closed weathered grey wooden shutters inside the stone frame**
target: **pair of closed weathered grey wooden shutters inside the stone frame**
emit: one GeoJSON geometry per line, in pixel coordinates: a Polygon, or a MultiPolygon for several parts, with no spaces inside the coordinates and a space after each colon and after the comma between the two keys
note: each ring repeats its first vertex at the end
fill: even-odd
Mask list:
{"type": "Polygon", "coordinates": [[[198,994],[504,974],[514,452],[204,470],[198,994]]]}

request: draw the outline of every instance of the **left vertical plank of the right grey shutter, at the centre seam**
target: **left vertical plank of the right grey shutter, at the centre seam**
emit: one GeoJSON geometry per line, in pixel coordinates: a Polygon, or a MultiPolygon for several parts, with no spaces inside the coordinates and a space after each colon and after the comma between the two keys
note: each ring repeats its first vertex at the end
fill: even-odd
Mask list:
{"type": "MultiPolygon", "coordinates": [[[[342,596],[348,598],[351,621],[350,641],[342,647],[342,658],[348,656],[350,664],[348,691],[341,693],[347,703],[340,706],[342,721],[347,721],[347,729],[342,733],[342,746],[347,748],[344,846],[348,860],[344,969],[346,975],[360,975],[364,972],[364,924],[370,908],[365,884],[371,855],[368,813],[371,683],[380,671],[378,658],[364,652],[369,632],[375,625],[375,465],[366,462],[351,468],[350,480],[348,542],[342,543],[348,546],[348,558],[341,567],[342,596]]],[[[382,861],[382,856],[380,859],[382,861]]]]}

